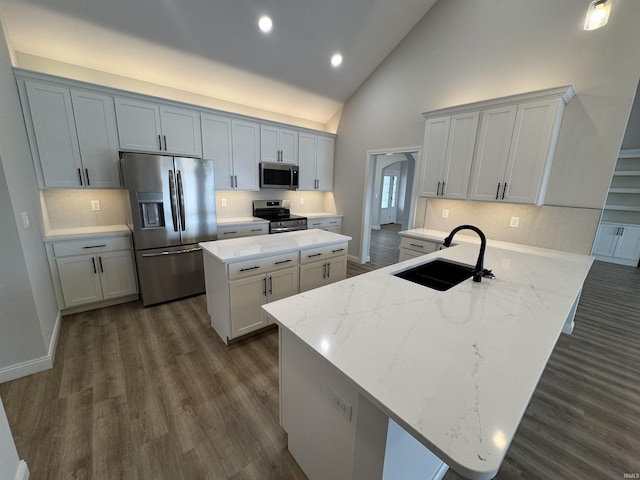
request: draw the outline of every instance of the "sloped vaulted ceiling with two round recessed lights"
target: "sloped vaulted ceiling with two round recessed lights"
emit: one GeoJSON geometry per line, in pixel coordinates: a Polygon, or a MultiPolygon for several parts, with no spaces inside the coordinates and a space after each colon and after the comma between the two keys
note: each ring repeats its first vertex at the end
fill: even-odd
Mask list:
{"type": "Polygon", "coordinates": [[[0,0],[16,54],[327,123],[436,0],[0,0]],[[261,15],[273,19],[259,31],[261,15]],[[340,52],[342,65],[331,56],[340,52]]]}

